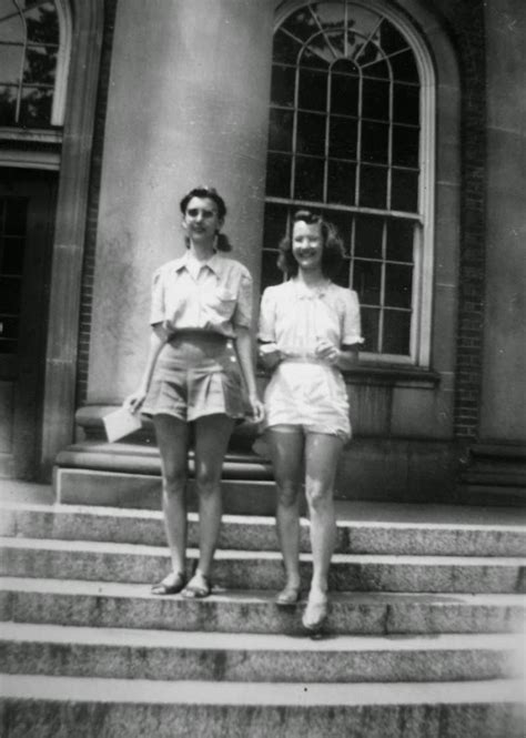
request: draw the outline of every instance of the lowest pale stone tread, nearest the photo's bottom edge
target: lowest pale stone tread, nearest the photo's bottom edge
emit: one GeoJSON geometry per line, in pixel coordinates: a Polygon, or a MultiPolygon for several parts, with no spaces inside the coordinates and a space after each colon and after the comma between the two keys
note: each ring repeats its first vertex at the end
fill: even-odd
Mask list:
{"type": "Polygon", "coordinates": [[[522,705],[522,679],[442,683],[164,681],[0,674],[3,700],[216,706],[522,705]]]}

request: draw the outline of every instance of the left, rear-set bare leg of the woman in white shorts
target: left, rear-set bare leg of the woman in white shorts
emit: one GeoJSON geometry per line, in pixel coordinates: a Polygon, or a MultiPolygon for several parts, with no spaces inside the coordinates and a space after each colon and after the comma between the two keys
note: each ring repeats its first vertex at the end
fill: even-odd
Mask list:
{"type": "Polygon", "coordinates": [[[300,489],[303,482],[304,438],[300,427],[286,426],[286,431],[270,428],[267,437],[276,483],[276,528],[285,567],[285,590],[287,588],[299,590],[300,489]]]}

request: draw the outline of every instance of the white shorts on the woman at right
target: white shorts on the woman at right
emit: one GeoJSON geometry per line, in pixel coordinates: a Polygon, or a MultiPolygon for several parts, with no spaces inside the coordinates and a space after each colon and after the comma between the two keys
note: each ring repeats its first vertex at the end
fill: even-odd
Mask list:
{"type": "Polygon", "coordinates": [[[279,364],[265,391],[265,411],[267,428],[301,426],[305,433],[351,438],[345,382],[336,367],[323,362],[279,364]]]}

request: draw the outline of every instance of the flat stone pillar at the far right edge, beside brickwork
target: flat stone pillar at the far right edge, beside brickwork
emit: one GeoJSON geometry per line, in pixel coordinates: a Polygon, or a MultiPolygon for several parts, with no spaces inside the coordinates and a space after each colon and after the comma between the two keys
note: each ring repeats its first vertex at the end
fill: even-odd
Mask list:
{"type": "Polygon", "coordinates": [[[481,441],[526,443],[523,0],[485,3],[487,252],[481,441]]]}

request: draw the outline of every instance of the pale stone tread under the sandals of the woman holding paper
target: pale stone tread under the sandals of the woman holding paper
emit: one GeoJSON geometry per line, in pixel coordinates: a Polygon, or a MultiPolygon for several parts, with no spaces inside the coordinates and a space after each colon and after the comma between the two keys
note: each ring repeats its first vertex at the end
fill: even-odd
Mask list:
{"type": "MultiPolygon", "coordinates": [[[[159,597],[150,592],[151,585],[123,582],[105,582],[89,579],[53,579],[51,577],[0,577],[0,593],[37,593],[52,595],[75,595],[93,597],[114,597],[119,599],[148,599],[159,603],[185,601],[182,597],[174,595],[170,597],[159,597]]],[[[214,592],[201,604],[214,603],[232,604],[239,603],[250,605],[251,603],[267,603],[274,606],[275,592],[269,589],[229,589],[224,592],[214,592]]],[[[306,593],[305,593],[306,596],[306,593]]],[[[347,603],[351,605],[374,605],[384,603],[421,603],[433,605],[482,605],[482,606],[505,606],[520,607],[526,613],[526,597],[519,593],[402,593],[402,592],[332,592],[330,599],[333,603],[347,603]]]]}

